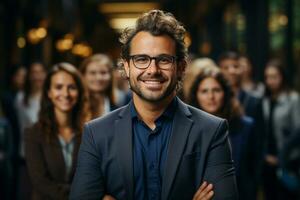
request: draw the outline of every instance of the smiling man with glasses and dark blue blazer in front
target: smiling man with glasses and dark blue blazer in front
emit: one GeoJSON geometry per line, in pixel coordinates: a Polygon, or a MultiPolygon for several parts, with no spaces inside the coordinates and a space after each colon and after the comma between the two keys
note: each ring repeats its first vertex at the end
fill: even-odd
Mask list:
{"type": "Polygon", "coordinates": [[[176,97],[184,35],[160,10],[123,32],[132,101],[85,125],[70,199],[237,199],[227,123],[176,97]]]}

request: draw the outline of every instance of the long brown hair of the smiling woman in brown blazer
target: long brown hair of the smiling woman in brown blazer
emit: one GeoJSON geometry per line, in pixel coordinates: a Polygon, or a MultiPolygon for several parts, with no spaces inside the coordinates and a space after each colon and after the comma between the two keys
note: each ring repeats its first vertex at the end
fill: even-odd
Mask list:
{"type": "Polygon", "coordinates": [[[69,63],[58,63],[51,68],[46,76],[42,92],[39,120],[36,124],[36,126],[45,133],[48,140],[58,134],[58,123],[55,117],[53,103],[48,97],[48,91],[51,87],[52,77],[61,71],[66,72],[73,77],[79,93],[77,103],[72,109],[71,127],[76,133],[81,134],[83,123],[85,122],[83,109],[86,95],[80,72],[69,63]]]}

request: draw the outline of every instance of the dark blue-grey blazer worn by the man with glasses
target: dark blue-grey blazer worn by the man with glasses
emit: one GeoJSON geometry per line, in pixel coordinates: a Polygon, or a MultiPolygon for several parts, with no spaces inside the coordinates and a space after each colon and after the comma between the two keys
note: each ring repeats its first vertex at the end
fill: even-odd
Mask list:
{"type": "MultiPolygon", "coordinates": [[[[204,180],[237,199],[226,121],[178,99],[172,130],[161,199],[192,199],[204,180]]],[[[134,199],[132,133],[129,105],[85,125],[70,199],[134,199]]]]}

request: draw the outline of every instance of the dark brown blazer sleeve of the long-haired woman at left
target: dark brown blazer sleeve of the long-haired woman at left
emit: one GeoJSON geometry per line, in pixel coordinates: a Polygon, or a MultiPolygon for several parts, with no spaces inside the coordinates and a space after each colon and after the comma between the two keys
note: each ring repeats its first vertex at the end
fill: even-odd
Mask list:
{"type": "Polygon", "coordinates": [[[43,155],[41,137],[33,128],[25,131],[25,158],[31,183],[36,192],[50,199],[66,199],[70,185],[57,183],[49,177],[43,155]]]}

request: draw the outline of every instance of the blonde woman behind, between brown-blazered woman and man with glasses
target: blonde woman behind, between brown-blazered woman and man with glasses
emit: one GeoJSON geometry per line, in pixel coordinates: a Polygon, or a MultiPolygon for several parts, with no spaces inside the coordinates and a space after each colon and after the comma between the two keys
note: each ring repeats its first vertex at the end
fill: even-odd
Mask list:
{"type": "Polygon", "coordinates": [[[116,109],[112,60],[105,54],[95,54],[83,61],[80,71],[88,89],[90,119],[116,109]]]}

